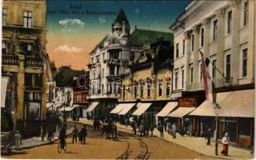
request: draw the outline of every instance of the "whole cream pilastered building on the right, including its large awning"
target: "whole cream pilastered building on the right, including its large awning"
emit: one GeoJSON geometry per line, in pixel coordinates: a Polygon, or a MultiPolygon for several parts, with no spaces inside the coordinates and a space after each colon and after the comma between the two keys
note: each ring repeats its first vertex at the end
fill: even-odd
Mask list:
{"type": "Polygon", "coordinates": [[[170,26],[174,31],[173,98],[194,102],[193,95],[203,93],[199,50],[210,59],[208,72],[217,88],[221,109],[215,113],[199,98],[202,105],[190,114],[194,134],[202,135],[205,126],[214,129],[213,117],[218,114],[220,137],[228,132],[232,142],[252,145],[255,28],[255,2],[240,0],[190,2],[170,26]]]}

